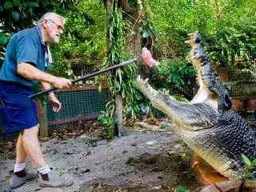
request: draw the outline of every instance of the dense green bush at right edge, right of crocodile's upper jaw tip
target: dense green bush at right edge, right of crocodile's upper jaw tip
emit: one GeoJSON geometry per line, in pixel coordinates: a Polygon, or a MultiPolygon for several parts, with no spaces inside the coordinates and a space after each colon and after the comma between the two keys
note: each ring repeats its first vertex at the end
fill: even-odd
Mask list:
{"type": "Polygon", "coordinates": [[[248,63],[249,57],[256,58],[254,43],[256,27],[225,26],[213,35],[206,36],[206,51],[215,63],[223,66],[235,65],[235,60],[248,63]],[[250,53],[250,54],[248,54],[250,53]]]}

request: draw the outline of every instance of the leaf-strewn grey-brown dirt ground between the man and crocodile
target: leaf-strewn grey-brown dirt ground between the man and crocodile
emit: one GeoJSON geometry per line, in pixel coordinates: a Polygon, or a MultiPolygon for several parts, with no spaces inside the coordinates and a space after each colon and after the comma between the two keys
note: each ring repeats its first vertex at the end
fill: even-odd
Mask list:
{"type": "MultiPolygon", "coordinates": [[[[162,118],[158,123],[138,122],[126,129],[122,137],[97,142],[92,139],[97,130],[42,139],[48,165],[58,174],[73,178],[74,185],[42,188],[34,181],[14,191],[182,192],[200,186],[190,168],[192,151],[176,134],[174,123],[162,118]]],[[[1,143],[7,149],[14,148],[13,142],[1,143]]],[[[10,191],[9,172],[14,168],[11,153],[2,150],[0,154],[0,191],[10,191]]],[[[27,164],[36,171],[30,160],[27,164]]]]}

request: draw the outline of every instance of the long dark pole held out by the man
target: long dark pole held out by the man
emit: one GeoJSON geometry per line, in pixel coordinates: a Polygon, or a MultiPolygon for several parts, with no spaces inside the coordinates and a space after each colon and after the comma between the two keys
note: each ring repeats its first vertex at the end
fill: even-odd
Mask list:
{"type": "MultiPolygon", "coordinates": [[[[82,80],[86,80],[86,79],[91,78],[91,77],[94,77],[94,76],[96,76],[96,75],[98,75],[98,74],[105,73],[106,71],[114,70],[114,69],[117,69],[118,67],[129,65],[129,64],[131,64],[131,63],[136,62],[136,60],[137,60],[136,58],[133,58],[133,59],[130,59],[130,60],[126,61],[126,62],[121,62],[121,63],[119,63],[118,65],[107,67],[107,68],[104,69],[104,70],[95,71],[94,73],[87,74],[86,76],[83,76],[83,77],[81,77],[81,78],[74,79],[74,80],[72,80],[71,82],[72,82],[72,83],[75,83],[75,82],[79,82],[79,81],[82,81],[82,80]]],[[[51,92],[51,91],[53,91],[53,90],[57,90],[57,89],[56,89],[55,87],[53,87],[53,88],[51,88],[51,89],[49,89],[49,90],[42,90],[42,91],[39,91],[38,93],[31,94],[31,95],[29,96],[29,98],[37,97],[37,96],[40,95],[40,94],[47,94],[47,93],[49,93],[49,92],[51,92]]]]}

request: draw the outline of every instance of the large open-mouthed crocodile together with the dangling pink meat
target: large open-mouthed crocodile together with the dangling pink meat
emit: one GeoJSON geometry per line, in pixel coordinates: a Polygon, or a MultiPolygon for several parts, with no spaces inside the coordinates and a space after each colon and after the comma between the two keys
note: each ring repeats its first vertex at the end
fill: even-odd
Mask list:
{"type": "MultiPolygon", "coordinates": [[[[155,90],[140,76],[136,78],[138,88],[155,108],[172,118],[187,146],[219,174],[230,179],[242,178],[246,173],[242,154],[251,161],[256,158],[255,126],[232,109],[228,91],[204,52],[202,35],[198,31],[189,35],[188,59],[198,71],[199,89],[194,98],[190,102],[178,102],[168,92],[155,90]]],[[[148,66],[146,59],[150,57],[150,51],[142,49],[142,58],[148,66]]],[[[252,171],[255,175],[255,166],[252,171]]]]}

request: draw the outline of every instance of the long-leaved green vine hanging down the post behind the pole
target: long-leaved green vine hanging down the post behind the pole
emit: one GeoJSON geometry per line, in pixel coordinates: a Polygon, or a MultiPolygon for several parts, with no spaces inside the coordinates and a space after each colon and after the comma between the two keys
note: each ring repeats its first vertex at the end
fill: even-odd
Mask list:
{"type": "MultiPolygon", "coordinates": [[[[122,20],[122,10],[116,10],[110,16],[110,26],[108,29],[108,35],[110,37],[109,54],[106,62],[108,66],[114,66],[131,57],[125,51],[125,31],[126,22],[122,20]]],[[[134,100],[136,101],[138,100],[138,98],[141,98],[141,94],[139,94],[139,92],[135,88],[136,86],[134,78],[136,77],[136,74],[137,66],[132,64],[129,66],[124,66],[122,68],[118,68],[117,70],[113,70],[108,76],[108,86],[113,100],[111,100],[107,104],[106,111],[102,111],[102,114],[99,117],[101,121],[103,117],[104,120],[106,120],[106,118],[109,118],[108,121],[106,121],[108,122],[108,125],[105,125],[106,130],[104,130],[107,138],[113,137],[113,134],[110,133],[114,131],[114,123],[116,123],[116,121],[114,121],[115,95],[122,95],[124,112],[123,114],[125,118],[135,118],[137,114],[136,112],[134,112],[136,108],[130,107],[130,104],[133,103],[134,100]]]]}

